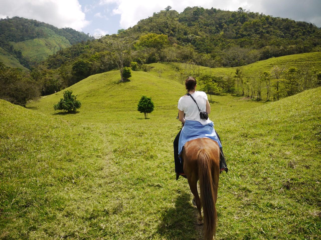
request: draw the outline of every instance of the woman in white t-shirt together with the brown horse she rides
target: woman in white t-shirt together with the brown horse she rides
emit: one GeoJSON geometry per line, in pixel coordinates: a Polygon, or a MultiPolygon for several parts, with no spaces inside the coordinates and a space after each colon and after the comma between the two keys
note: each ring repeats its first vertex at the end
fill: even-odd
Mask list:
{"type": "Polygon", "coordinates": [[[221,171],[227,172],[228,169],[221,151],[221,141],[213,122],[208,118],[211,107],[206,93],[195,91],[194,77],[187,78],[185,86],[188,93],[178,101],[178,118],[184,127],[174,140],[176,180],[179,175],[187,178],[198,210],[197,223],[200,225],[204,222],[204,239],[213,240],[217,223],[215,204],[219,176],[221,171]],[[201,198],[197,190],[198,180],[201,198]]]}

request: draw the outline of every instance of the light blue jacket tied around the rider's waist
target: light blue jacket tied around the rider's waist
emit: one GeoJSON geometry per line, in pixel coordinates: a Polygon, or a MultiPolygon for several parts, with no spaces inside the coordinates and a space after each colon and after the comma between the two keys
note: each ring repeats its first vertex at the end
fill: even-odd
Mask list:
{"type": "MultiPolygon", "coordinates": [[[[197,138],[210,138],[216,141],[221,148],[221,142],[214,131],[214,123],[211,121],[202,125],[198,121],[186,120],[178,140],[178,156],[181,154],[185,143],[197,138]]],[[[181,158],[180,158],[181,160],[181,158]]]]}

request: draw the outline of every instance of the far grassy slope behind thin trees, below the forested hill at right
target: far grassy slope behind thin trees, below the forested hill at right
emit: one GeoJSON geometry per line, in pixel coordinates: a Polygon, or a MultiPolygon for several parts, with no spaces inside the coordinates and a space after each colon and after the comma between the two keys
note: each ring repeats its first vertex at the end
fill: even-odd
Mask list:
{"type": "MultiPolygon", "coordinates": [[[[150,71],[149,73],[153,76],[161,76],[168,79],[176,80],[177,82],[181,83],[181,78],[179,77],[179,72],[183,72],[185,75],[190,76],[197,76],[199,74],[213,74],[215,76],[235,76],[235,68],[207,68],[204,66],[194,66],[187,64],[187,63],[152,63],[149,64],[150,71]]],[[[242,79],[243,82],[251,83],[253,80],[257,80],[260,78],[260,74],[264,71],[270,72],[273,66],[284,66],[285,71],[290,67],[296,67],[299,70],[303,66],[308,66],[308,68],[312,71],[314,74],[315,72],[321,71],[321,52],[310,52],[310,53],[302,53],[302,54],[293,54],[293,55],[287,55],[277,58],[270,58],[263,61],[257,61],[255,63],[238,67],[241,70],[242,73],[242,79]]],[[[284,78],[283,75],[281,75],[280,78],[284,78]]],[[[183,79],[184,80],[184,79],[183,79]]],[[[200,83],[198,83],[200,85],[200,83]]],[[[250,84],[251,85],[251,84],[250,84]]],[[[201,85],[199,86],[201,89],[201,85]]],[[[280,97],[283,98],[287,96],[285,91],[285,84],[282,82],[279,85],[279,91],[280,91],[280,97]]],[[[235,86],[236,88],[236,86],[235,86]]],[[[239,92],[241,92],[241,87],[239,87],[239,92]]],[[[262,84],[262,100],[266,100],[266,86],[265,83],[262,84]]],[[[256,92],[257,93],[257,92],[256,92]]],[[[276,88],[275,84],[273,82],[273,79],[271,81],[270,86],[270,100],[273,100],[273,94],[276,94],[276,88]]],[[[249,89],[248,92],[249,95],[251,95],[251,91],[249,89]]],[[[247,95],[247,88],[245,87],[245,95],[247,95]]]]}

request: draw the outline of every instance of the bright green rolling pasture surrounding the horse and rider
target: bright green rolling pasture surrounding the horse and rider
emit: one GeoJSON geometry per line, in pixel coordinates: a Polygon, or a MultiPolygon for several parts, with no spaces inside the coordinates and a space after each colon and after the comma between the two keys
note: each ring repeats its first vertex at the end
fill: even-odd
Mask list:
{"type": "MultiPolygon", "coordinates": [[[[187,180],[175,180],[177,81],[118,71],[71,86],[82,108],[59,114],[62,92],[0,101],[0,239],[202,239],[187,180]],[[137,108],[151,96],[155,110],[137,108]]],[[[170,72],[169,72],[170,74],[170,72]]],[[[222,173],[217,239],[319,239],[321,88],[263,103],[212,98],[222,173]]]]}

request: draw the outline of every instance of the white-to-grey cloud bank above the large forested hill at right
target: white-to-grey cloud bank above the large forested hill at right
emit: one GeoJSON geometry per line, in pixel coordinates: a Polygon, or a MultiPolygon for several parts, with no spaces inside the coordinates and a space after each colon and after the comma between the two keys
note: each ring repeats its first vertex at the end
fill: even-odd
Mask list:
{"type": "Polygon", "coordinates": [[[320,14],[316,12],[320,10],[320,0],[308,0],[307,2],[301,0],[164,0],[164,1],[150,1],[150,0],[100,0],[100,5],[105,5],[107,8],[112,6],[113,14],[120,15],[119,25],[121,28],[128,28],[134,26],[139,20],[152,16],[153,12],[164,10],[165,7],[172,6],[173,10],[182,12],[187,6],[193,7],[195,5],[204,8],[219,8],[222,10],[237,11],[239,7],[250,10],[251,12],[263,12],[275,17],[287,17],[293,20],[313,21],[317,26],[321,26],[319,20],[320,14]],[[295,7],[299,5],[300,7],[295,7]],[[300,10],[300,11],[299,11],[300,10]],[[311,14],[313,12],[313,14],[311,14]]]}

